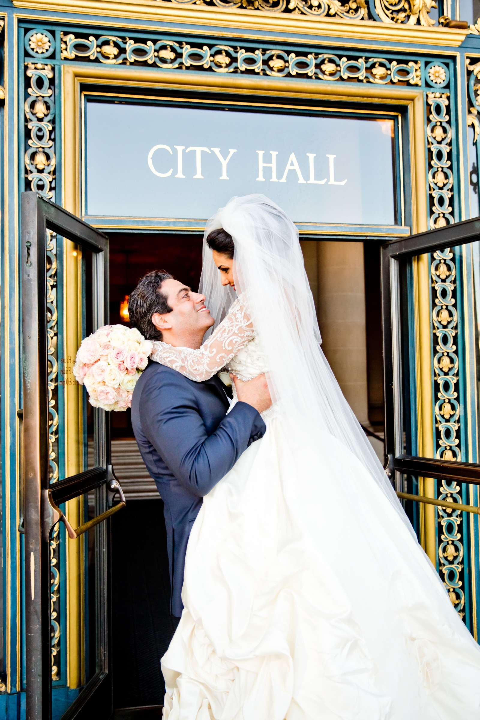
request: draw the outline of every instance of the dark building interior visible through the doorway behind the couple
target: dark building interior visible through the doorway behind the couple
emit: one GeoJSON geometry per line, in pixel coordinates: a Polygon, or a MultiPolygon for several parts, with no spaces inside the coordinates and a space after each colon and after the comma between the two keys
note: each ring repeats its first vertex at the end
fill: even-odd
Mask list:
{"type": "MultiPolygon", "coordinates": [[[[128,325],[128,294],[150,270],[166,269],[199,287],[201,234],[109,233],[109,240],[110,323],[128,325]]],[[[379,243],[301,240],[301,245],[325,354],[383,462],[379,243]]],[[[112,523],[113,690],[120,717],[126,708],[163,702],[160,657],[173,624],[163,502],[137,449],[130,410],[111,413],[110,420],[112,463],[127,498],[126,510],[112,523]]]]}

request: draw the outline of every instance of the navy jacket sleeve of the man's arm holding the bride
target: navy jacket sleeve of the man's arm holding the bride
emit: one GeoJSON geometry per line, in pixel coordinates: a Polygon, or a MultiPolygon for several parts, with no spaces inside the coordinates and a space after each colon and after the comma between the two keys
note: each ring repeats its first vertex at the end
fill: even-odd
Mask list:
{"type": "Polygon", "coordinates": [[[237,402],[211,435],[185,379],[155,374],[142,390],[142,428],[175,475],[194,495],[203,497],[232,469],[248,446],[266,431],[255,408],[237,402]]]}

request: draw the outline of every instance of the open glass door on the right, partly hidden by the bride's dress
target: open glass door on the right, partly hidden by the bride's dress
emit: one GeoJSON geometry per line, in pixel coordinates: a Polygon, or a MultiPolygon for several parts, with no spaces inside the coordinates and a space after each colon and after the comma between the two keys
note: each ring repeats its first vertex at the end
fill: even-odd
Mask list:
{"type": "Polygon", "coordinates": [[[388,472],[478,639],[480,218],[386,243],[381,264],[388,472]]]}

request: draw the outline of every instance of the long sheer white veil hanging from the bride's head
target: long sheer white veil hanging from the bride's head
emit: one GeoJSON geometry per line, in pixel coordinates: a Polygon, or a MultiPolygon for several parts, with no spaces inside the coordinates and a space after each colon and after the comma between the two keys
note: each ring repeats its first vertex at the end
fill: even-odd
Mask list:
{"type": "MultiPolygon", "coordinates": [[[[328,438],[334,436],[363,463],[372,482],[415,536],[320,347],[317,315],[294,223],[261,194],[233,197],[209,219],[200,292],[207,296],[218,323],[235,294],[219,283],[218,269],[206,243],[207,235],[216,228],[224,228],[234,240],[235,287],[248,299],[255,333],[270,369],[271,395],[289,423],[292,444],[298,440],[304,446],[308,438],[312,444],[324,444],[327,451],[328,438]]],[[[317,472],[320,474],[320,469],[317,472]]],[[[354,477],[342,480],[358,482],[354,477]]]]}

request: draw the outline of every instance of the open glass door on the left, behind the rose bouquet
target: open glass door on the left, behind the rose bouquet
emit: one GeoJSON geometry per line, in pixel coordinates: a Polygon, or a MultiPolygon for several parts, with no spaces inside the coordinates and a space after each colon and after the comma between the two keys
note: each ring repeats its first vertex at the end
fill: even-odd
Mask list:
{"type": "Polygon", "coordinates": [[[109,518],[125,503],[109,420],[72,373],[81,340],[108,321],[107,280],[105,235],[23,193],[27,720],[112,714],[109,518]]]}

